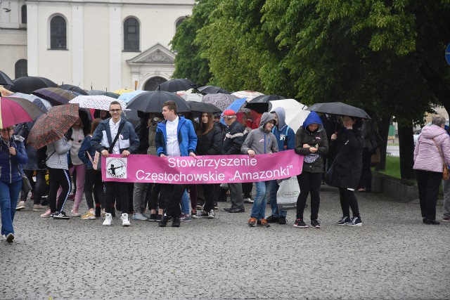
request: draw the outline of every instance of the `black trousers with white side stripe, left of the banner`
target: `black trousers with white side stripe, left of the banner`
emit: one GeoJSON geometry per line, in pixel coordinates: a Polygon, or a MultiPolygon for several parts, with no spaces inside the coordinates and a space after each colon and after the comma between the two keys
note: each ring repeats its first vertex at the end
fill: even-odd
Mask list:
{"type": "Polygon", "coordinates": [[[52,213],[56,211],[63,211],[64,204],[68,200],[72,183],[70,182],[69,170],[49,168],[49,207],[52,213]],[[56,193],[61,186],[63,190],[56,202],[56,193]]]}

